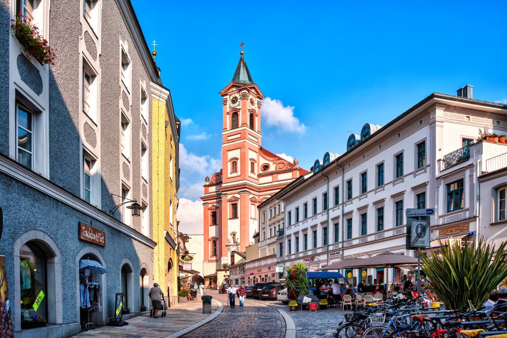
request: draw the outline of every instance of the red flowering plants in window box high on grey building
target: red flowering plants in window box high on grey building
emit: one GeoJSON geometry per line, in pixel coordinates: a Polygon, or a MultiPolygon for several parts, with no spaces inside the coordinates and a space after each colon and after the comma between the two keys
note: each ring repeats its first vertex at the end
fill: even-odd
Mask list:
{"type": "Polygon", "coordinates": [[[28,53],[28,58],[37,59],[42,64],[55,64],[55,51],[49,46],[48,41],[39,32],[30,18],[23,17],[21,13],[16,19],[11,20],[11,31],[19,40],[23,49],[28,53]]]}

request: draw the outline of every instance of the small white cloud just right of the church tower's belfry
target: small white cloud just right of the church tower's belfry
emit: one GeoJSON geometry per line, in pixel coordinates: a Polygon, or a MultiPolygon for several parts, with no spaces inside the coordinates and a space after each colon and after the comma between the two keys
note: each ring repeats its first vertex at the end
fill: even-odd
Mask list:
{"type": "Polygon", "coordinates": [[[282,101],[266,97],[262,100],[262,115],[268,126],[276,126],[281,131],[305,132],[305,125],[294,117],[294,106],[283,106],[282,101]]]}

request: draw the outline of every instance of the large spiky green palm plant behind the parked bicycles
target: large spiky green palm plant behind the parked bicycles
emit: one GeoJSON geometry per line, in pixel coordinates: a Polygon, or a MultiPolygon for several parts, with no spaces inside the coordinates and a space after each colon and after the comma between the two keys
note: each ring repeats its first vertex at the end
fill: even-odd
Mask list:
{"type": "MultiPolygon", "coordinates": [[[[440,241],[439,241],[440,242],[440,241]]],[[[486,302],[489,293],[507,278],[507,242],[498,249],[484,242],[465,241],[463,245],[439,243],[432,255],[421,251],[421,268],[431,289],[442,299],[446,308],[463,306],[478,309],[486,302]],[[477,247],[476,247],[477,245],[477,247]]]]}

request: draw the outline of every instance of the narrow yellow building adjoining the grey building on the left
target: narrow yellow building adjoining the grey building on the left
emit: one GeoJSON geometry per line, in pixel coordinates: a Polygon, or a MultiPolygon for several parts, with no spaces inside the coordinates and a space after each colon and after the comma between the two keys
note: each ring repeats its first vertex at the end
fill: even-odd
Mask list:
{"type": "Polygon", "coordinates": [[[151,83],[152,115],[152,229],[154,250],[154,278],[164,291],[167,306],[177,303],[178,291],[178,227],[177,206],[179,189],[180,122],[174,114],[170,91],[151,83]]]}

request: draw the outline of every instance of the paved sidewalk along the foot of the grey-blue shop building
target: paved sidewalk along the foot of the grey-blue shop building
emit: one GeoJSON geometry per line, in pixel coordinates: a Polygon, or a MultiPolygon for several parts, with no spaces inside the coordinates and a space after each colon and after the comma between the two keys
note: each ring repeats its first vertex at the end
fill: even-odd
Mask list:
{"type": "MultiPolygon", "coordinates": [[[[211,314],[218,309],[216,302],[211,302],[211,314]]],[[[163,338],[179,330],[183,330],[195,323],[207,318],[210,315],[202,313],[202,302],[200,296],[196,301],[178,303],[166,310],[166,316],[159,318],[150,317],[150,314],[137,316],[126,320],[129,325],[100,326],[94,330],[82,331],[73,337],[124,337],[124,338],[163,338]]]]}

